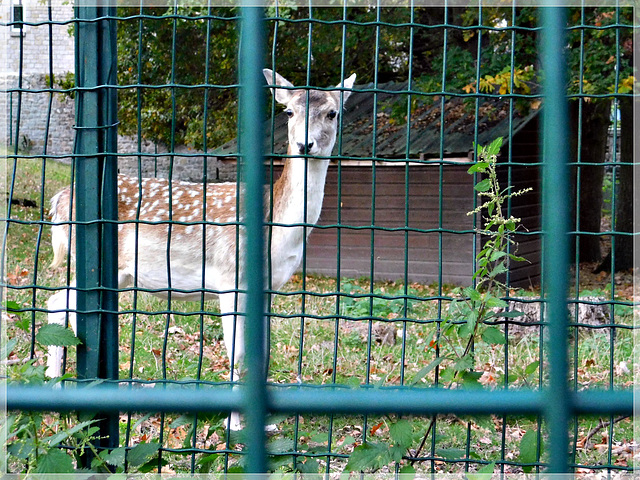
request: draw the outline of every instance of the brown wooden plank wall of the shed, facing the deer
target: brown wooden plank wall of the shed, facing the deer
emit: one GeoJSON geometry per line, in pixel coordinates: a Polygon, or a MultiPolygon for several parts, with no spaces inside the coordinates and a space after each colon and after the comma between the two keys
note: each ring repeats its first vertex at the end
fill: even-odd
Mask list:
{"type": "Polygon", "coordinates": [[[307,272],[336,276],[339,266],[343,277],[468,284],[477,240],[467,216],[473,209],[467,168],[377,166],[374,180],[370,166],[343,166],[339,209],[338,167],[332,165],[319,222],[326,228],[311,233],[307,272]]]}

